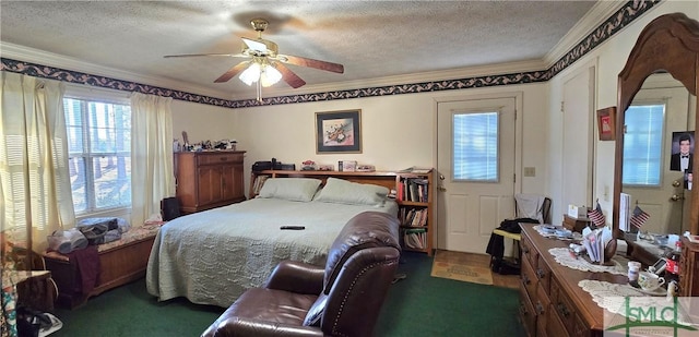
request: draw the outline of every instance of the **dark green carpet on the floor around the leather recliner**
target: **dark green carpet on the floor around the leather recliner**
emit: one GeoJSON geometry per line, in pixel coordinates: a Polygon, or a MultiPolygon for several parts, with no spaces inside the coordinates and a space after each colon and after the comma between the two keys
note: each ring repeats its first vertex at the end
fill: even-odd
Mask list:
{"type": "MultiPolygon", "coordinates": [[[[524,336],[518,291],[430,277],[433,258],[404,253],[377,323],[376,336],[524,336]]],[[[145,281],[104,292],[75,309],[56,309],[63,328],[51,337],[199,336],[223,308],[185,299],[157,302],[145,281]]]]}

